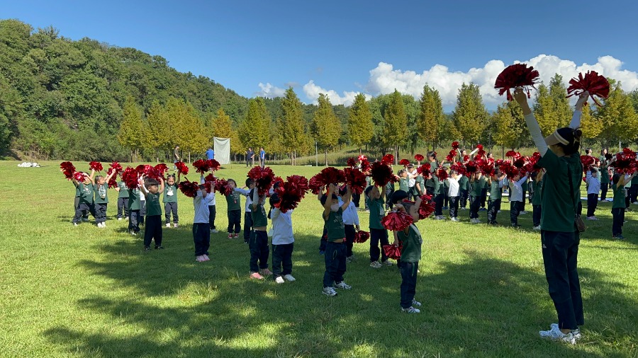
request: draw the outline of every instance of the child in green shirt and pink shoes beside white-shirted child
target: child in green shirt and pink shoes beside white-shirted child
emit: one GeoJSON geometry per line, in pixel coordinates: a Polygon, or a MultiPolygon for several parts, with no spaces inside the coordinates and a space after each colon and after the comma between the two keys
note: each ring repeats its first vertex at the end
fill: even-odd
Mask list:
{"type": "MultiPolygon", "coordinates": [[[[252,204],[250,204],[252,214],[252,236],[250,236],[250,278],[264,279],[264,276],[272,275],[268,270],[268,218],[264,202],[266,195],[259,196],[259,190],[254,187],[251,190],[252,204]],[[259,261],[259,267],[257,266],[259,261]]],[[[235,236],[237,237],[237,236],[235,236]]]]}

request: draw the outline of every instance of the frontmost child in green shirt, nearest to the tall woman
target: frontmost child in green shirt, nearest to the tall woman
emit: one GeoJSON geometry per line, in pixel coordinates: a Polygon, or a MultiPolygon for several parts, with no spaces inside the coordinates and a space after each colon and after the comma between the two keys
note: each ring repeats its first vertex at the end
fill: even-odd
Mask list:
{"type": "Polygon", "coordinates": [[[420,302],[414,299],[423,243],[421,233],[415,225],[419,221],[418,209],[420,205],[420,197],[416,199],[414,204],[401,201],[396,204],[397,209],[407,212],[413,218],[413,224],[410,224],[403,231],[397,231],[393,243],[395,246],[400,242],[403,245],[399,270],[401,270],[401,311],[405,313],[420,313],[420,310],[414,306],[421,306],[420,302]]]}

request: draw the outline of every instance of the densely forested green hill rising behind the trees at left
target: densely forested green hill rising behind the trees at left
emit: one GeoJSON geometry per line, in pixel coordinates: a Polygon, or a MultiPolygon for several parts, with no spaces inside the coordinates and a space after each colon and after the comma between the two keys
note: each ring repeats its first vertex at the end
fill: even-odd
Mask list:
{"type": "Polygon", "coordinates": [[[1,154],[128,158],[117,134],[130,97],[143,112],[155,100],[175,97],[201,118],[223,108],[233,121],[248,108],[247,98],[207,77],[181,73],[161,56],[0,20],[1,154]]]}

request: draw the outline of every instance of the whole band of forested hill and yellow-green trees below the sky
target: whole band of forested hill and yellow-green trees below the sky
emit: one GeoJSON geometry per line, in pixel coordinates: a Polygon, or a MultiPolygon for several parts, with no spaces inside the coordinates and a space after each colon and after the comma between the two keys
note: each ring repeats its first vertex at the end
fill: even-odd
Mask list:
{"type": "MultiPolygon", "coordinates": [[[[638,91],[610,80],[610,97],[583,111],[586,145],[636,143],[638,91]]],[[[564,81],[556,74],[540,84],[534,112],[544,134],[566,126],[572,115],[564,81]]],[[[590,103],[593,105],[593,103],[590,103]]],[[[518,149],[531,146],[522,111],[505,102],[488,112],[475,83],[464,83],[452,113],[438,91],[420,98],[394,91],[348,107],[321,94],[301,103],[293,88],[281,98],[245,98],[203,76],[181,73],[166,59],[133,48],[84,38],[69,40],[55,28],[33,30],[0,21],[0,151],[10,156],[73,160],[164,160],[179,145],[203,151],[213,137],[231,139],[242,156],[264,146],[289,158],[354,146],[369,153],[411,154],[459,140],[464,146],[518,149]]],[[[236,157],[237,158],[237,157],[236,157]]]]}

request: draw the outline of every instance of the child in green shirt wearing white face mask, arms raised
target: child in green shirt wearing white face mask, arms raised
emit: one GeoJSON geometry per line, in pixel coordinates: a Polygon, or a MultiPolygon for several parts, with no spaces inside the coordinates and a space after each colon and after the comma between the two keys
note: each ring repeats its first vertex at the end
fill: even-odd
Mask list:
{"type": "MultiPolygon", "coordinates": [[[[337,289],[352,289],[349,284],[343,281],[343,274],[346,271],[345,261],[345,226],[343,224],[343,211],[350,204],[350,187],[348,185],[344,202],[340,206],[339,198],[335,194],[337,185],[330,184],[328,193],[321,197],[323,204],[323,221],[328,229],[328,243],[325,245],[325,272],[323,274],[323,294],[337,296],[337,291],[332,287],[335,284],[337,289]]],[[[375,202],[379,207],[383,205],[383,200],[375,202]]],[[[387,233],[386,233],[387,241],[387,233]]]]}

